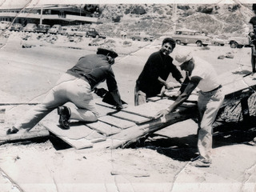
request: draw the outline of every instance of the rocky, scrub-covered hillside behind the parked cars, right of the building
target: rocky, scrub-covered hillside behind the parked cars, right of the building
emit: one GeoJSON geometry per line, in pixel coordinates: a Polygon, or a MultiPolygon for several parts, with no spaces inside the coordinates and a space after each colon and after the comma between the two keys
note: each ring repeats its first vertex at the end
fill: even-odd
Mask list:
{"type": "Polygon", "coordinates": [[[254,16],[251,4],[108,4],[100,5],[99,10],[99,21],[102,24],[96,28],[108,36],[118,35],[121,30],[128,34],[145,31],[158,36],[171,33],[174,26],[202,30],[222,38],[231,35],[245,36],[250,30],[248,22],[254,16]]]}

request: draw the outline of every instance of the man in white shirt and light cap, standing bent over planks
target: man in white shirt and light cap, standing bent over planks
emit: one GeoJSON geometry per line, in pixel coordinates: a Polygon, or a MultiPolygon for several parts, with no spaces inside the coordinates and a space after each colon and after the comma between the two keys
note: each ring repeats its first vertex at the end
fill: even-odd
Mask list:
{"type": "MultiPolygon", "coordinates": [[[[181,52],[182,53],[182,52],[181,52]]],[[[184,52],[183,52],[184,53],[184,52]]],[[[210,166],[212,150],[212,124],[220,106],[224,101],[222,86],[218,76],[209,62],[193,57],[191,53],[177,54],[175,60],[181,70],[188,73],[190,82],[175,102],[166,110],[161,110],[155,118],[174,112],[174,110],[189,98],[198,86],[198,158],[192,162],[193,166],[210,166]]]]}

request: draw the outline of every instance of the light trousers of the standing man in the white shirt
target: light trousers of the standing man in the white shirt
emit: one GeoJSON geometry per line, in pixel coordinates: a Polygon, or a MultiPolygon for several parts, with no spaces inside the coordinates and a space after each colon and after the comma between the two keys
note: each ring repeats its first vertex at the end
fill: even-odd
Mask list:
{"type": "Polygon", "coordinates": [[[210,160],[213,145],[213,123],[224,101],[222,89],[199,92],[198,95],[198,151],[202,158],[210,160]]]}

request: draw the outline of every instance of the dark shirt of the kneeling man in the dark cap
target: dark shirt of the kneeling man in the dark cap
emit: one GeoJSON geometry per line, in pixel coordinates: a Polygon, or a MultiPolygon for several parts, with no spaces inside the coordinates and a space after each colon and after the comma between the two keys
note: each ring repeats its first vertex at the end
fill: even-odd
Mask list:
{"type": "Polygon", "coordinates": [[[104,82],[105,80],[109,91],[118,90],[114,72],[111,65],[106,60],[106,55],[89,54],[79,58],[77,64],[70,70],[67,70],[67,73],[86,78],[92,90],[94,87],[98,86],[100,82],[104,82]]]}

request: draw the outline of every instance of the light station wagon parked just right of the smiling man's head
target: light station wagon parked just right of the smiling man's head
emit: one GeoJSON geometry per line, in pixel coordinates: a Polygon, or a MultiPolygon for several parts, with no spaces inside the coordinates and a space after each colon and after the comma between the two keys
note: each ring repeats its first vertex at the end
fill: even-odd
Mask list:
{"type": "Polygon", "coordinates": [[[210,44],[210,38],[196,30],[176,30],[172,38],[178,45],[183,44],[184,46],[189,43],[196,43],[197,46],[208,46],[210,44]]]}

